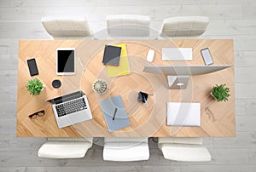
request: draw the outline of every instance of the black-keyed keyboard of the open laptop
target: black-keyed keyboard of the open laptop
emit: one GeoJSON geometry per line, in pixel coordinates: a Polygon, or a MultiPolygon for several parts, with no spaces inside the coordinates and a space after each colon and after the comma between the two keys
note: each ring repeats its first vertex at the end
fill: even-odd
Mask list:
{"type": "Polygon", "coordinates": [[[84,109],[87,109],[87,106],[84,101],[84,98],[82,97],[76,100],[70,100],[65,103],[56,105],[55,108],[56,108],[58,117],[62,117],[73,112],[83,111],[84,109]]]}

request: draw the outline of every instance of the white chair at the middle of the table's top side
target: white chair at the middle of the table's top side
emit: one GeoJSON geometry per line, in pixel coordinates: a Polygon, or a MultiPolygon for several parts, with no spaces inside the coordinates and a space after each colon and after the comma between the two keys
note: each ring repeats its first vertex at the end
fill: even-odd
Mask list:
{"type": "Polygon", "coordinates": [[[150,17],[135,14],[107,16],[108,36],[113,38],[142,38],[150,35],[150,17]]]}

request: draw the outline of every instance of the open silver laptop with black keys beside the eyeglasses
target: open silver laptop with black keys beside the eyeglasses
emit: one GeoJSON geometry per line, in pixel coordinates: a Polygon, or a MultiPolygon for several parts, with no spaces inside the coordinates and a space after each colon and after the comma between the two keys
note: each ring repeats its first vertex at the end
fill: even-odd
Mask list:
{"type": "Polygon", "coordinates": [[[92,118],[89,102],[83,91],[62,95],[47,101],[52,104],[59,128],[92,118]]]}

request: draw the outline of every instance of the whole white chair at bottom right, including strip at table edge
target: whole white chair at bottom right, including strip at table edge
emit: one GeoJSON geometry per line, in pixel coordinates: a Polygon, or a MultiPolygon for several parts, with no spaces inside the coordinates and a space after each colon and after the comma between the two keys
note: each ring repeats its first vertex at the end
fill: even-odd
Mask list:
{"type": "Polygon", "coordinates": [[[211,161],[201,138],[159,138],[158,147],[166,159],[187,162],[211,161]]]}

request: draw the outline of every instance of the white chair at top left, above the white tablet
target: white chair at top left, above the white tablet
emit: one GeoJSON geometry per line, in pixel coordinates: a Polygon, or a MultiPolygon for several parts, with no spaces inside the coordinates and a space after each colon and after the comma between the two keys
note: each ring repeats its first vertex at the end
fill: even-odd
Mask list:
{"type": "Polygon", "coordinates": [[[42,19],[44,29],[54,39],[92,37],[86,18],[50,18],[42,19]]]}

